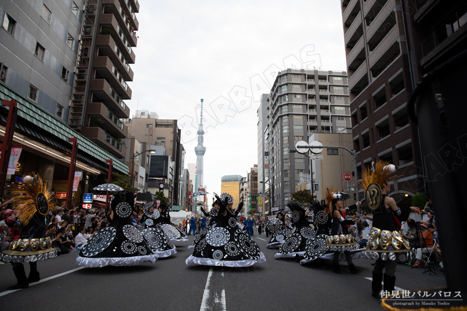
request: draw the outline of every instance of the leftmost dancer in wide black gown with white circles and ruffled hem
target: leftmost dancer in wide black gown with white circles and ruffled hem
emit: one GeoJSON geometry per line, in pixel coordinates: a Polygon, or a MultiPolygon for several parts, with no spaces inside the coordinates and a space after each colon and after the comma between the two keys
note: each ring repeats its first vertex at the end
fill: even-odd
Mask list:
{"type": "Polygon", "coordinates": [[[76,258],[82,267],[134,266],[158,258],[148,247],[143,234],[131,223],[135,195],[120,192],[110,204],[110,224],[100,229],[84,245],[76,258]]]}

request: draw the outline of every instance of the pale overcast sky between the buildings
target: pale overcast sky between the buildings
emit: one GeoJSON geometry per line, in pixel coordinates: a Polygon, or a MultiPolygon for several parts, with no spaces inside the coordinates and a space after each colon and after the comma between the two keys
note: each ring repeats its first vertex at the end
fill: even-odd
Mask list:
{"type": "Polygon", "coordinates": [[[196,163],[204,99],[204,185],[210,193],[220,194],[223,175],[247,176],[258,163],[256,111],[278,71],[346,70],[340,0],[138,2],[132,100],[126,104],[130,114],[145,109],[178,120],[187,168],[196,163]]]}

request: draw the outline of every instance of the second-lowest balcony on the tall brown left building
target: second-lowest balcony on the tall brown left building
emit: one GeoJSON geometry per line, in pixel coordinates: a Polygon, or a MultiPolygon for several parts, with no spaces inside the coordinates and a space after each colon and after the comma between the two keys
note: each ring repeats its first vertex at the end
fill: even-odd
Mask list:
{"type": "Polygon", "coordinates": [[[89,103],[86,114],[90,115],[88,127],[100,127],[116,138],[126,138],[128,127],[122,123],[103,103],[89,103]]]}

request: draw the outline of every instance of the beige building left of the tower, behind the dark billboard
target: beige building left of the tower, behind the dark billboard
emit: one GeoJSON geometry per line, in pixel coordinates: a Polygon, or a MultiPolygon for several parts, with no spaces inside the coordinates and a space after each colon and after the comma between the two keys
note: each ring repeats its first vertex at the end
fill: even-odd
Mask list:
{"type": "MultiPolygon", "coordinates": [[[[147,110],[137,110],[137,114],[132,119],[125,120],[128,126],[128,135],[135,137],[141,142],[149,145],[161,146],[165,149],[164,155],[170,156],[170,161],[174,163],[173,176],[168,182],[168,193],[173,198],[173,204],[179,205],[180,194],[180,175],[182,174],[182,152],[183,146],[180,144],[181,130],[178,128],[177,120],[157,119],[156,113],[150,113],[147,110]]],[[[154,178],[161,178],[162,175],[151,176],[149,181],[154,178]]],[[[159,182],[159,181],[157,181],[159,182]]]]}

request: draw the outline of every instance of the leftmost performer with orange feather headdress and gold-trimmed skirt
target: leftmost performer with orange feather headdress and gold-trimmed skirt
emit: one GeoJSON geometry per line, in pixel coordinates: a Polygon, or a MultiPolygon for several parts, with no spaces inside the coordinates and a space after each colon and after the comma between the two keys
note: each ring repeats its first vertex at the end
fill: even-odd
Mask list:
{"type": "Polygon", "coordinates": [[[7,250],[0,253],[1,261],[11,262],[17,278],[17,284],[8,287],[8,290],[28,288],[30,282],[39,281],[37,261],[52,259],[57,255],[52,241],[45,237],[45,216],[54,210],[52,192],[35,173],[23,176],[23,181],[24,187],[12,191],[14,197],[11,202],[13,208],[20,212],[21,234],[7,250]],[[23,262],[29,262],[29,277],[26,277],[23,262]]]}

